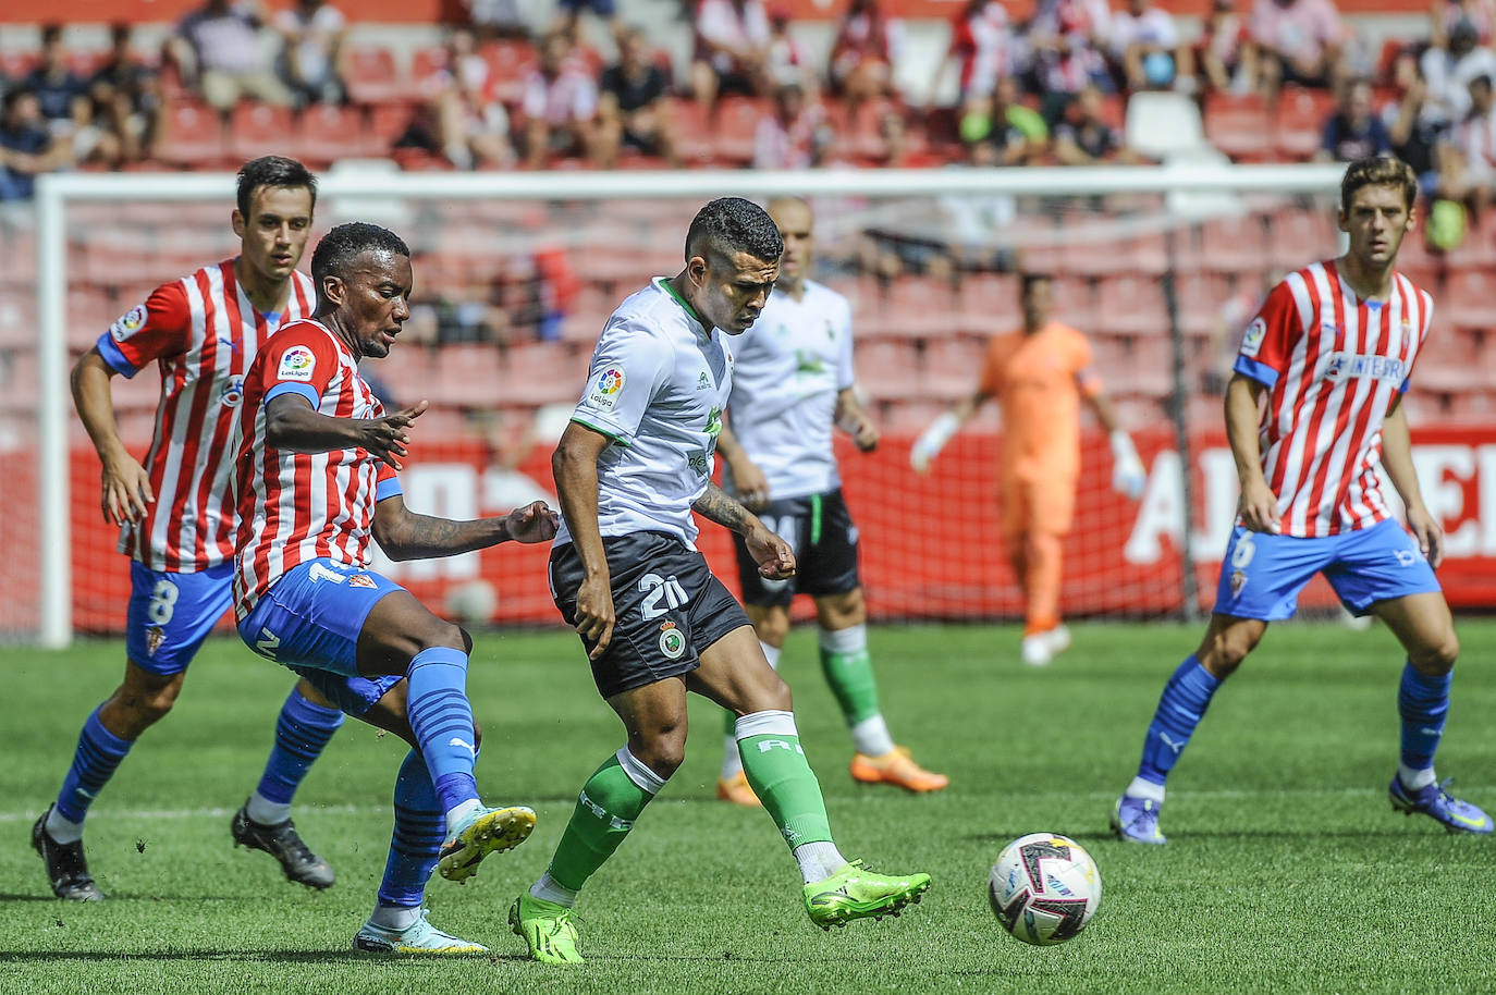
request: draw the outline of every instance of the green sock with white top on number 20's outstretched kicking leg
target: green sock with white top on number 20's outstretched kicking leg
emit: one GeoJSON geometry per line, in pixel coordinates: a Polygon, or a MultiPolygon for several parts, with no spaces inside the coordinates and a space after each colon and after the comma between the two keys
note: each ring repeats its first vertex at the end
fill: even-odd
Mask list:
{"type": "Polygon", "coordinates": [[[791,850],[806,842],[832,841],[821,784],[800,750],[793,712],[766,711],[739,718],[738,750],[748,786],[791,850]]]}

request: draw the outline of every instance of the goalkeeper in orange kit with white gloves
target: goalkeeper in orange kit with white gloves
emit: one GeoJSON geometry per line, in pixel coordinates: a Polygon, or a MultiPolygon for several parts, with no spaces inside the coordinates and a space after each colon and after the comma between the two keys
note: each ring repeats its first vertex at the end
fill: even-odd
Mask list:
{"type": "Polygon", "coordinates": [[[1095,411],[1112,443],[1112,486],[1129,500],[1147,474],[1131,437],[1091,370],[1091,344],[1076,329],[1050,320],[1053,284],[1046,274],[1023,275],[1023,331],[998,335],[975,394],[941,414],[914,443],[910,462],[926,473],[951,435],[987,401],[1002,407],[998,462],[1002,537],[1023,590],[1023,663],[1044,666],[1070,648],[1059,616],[1061,560],[1076,512],[1080,477],[1080,399],[1095,411]]]}

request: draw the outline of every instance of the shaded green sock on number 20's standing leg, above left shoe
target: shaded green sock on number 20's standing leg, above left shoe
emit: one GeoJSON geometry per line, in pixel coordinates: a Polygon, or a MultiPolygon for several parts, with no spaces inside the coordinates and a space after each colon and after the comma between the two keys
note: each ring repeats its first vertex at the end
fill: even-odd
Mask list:
{"type": "Polygon", "coordinates": [[[624,747],[582,786],[571,821],[561,833],[551,877],[562,887],[579,892],[586,878],[613,856],[634,827],[639,812],[664,787],[658,774],[639,763],[624,747]]]}

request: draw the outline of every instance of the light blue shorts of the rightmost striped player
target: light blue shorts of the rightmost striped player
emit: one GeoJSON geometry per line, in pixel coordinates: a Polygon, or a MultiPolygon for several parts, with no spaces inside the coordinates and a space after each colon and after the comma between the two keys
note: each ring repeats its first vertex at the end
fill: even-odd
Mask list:
{"type": "Polygon", "coordinates": [[[1267,622],[1293,618],[1299,593],[1316,573],[1324,573],[1340,601],[1357,615],[1376,601],[1441,590],[1412,536],[1391,519],[1316,539],[1254,533],[1237,525],[1221,564],[1215,610],[1267,622]]]}

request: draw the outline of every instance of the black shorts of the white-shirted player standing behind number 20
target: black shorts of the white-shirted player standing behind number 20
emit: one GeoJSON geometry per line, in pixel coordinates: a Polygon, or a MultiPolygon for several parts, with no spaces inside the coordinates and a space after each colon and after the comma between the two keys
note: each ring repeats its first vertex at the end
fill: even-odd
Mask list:
{"type": "Polygon", "coordinates": [[[770,501],[758,518],[794,549],[796,572],[788,581],[766,581],[738,537],[738,579],[744,603],[754,607],[788,604],[796,594],[826,597],[862,585],[857,576],[857,527],[841,488],[829,494],[770,501]]]}

